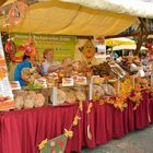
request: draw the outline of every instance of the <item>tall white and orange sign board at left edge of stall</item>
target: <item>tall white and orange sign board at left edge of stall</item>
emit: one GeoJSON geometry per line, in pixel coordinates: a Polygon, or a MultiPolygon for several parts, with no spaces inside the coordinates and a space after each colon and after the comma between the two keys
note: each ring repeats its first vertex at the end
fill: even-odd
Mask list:
{"type": "Polygon", "coordinates": [[[8,78],[3,46],[0,36],[0,110],[14,108],[13,94],[8,78]]]}

